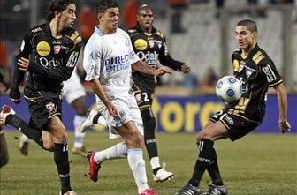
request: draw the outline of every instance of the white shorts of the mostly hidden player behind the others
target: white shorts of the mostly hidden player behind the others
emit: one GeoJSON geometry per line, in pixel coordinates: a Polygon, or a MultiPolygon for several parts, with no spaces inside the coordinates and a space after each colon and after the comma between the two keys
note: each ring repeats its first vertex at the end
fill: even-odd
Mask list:
{"type": "Polygon", "coordinates": [[[69,104],[72,104],[72,101],[80,97],[86,96],[85,87],[80,83],[76,69],[72,72],[71,78],[64,81],[63,96],[69,104]]]}

